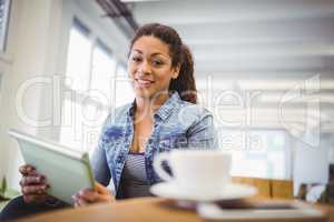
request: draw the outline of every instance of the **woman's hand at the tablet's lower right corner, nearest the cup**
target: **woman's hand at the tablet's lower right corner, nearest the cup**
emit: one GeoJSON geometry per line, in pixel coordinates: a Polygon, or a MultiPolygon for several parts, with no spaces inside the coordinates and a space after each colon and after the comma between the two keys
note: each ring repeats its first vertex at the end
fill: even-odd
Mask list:
{"type": "Polygon", "coordinates": [[[72,195],[76,208],[86,206],[92,203],[112,202],[115,196],[102,184],[95,182],[94,190],[82,189],[72,195]]]}

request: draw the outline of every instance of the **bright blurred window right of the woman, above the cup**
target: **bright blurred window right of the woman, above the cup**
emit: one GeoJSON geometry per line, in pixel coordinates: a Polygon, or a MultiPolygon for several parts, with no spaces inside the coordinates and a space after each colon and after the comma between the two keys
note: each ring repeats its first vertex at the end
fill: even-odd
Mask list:
{"type": "Polygon", "coordinates": [[[219,138],[224,150],[233,153],[233,175],[291,178],[289,145],[284,131],[222,130],[219,138]]]}

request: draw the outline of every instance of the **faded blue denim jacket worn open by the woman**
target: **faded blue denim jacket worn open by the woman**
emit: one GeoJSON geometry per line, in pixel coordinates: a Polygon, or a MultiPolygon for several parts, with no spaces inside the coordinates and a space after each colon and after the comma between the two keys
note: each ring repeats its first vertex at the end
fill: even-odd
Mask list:
{"type": "MultiPolygon", "coordinates": [[[[135,102],[109,114],[92,154],[95,179],[108,185],[112,179],[116,196],[125,160],[134,137],[135,102]]],[[[149,184],[160,182],[154,172],[154,157],[171,149],[216,149],[213,115],[199,105],[180,100],[177,92],[154,115],[154,130],[146,143],[145,168],[149,184]]]]}

